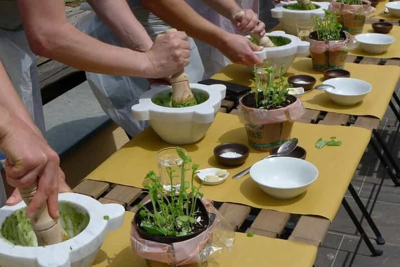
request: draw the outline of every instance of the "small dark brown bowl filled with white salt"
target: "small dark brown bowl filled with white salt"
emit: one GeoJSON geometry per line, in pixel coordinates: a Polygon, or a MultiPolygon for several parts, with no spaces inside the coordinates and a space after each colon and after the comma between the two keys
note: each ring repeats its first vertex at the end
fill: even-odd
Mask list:
{"type": "Polygon", "coordinates": [[[245,145],[239,143],[225,143],[215,147],[214,156],[223,165],[238,166],[245,163],[246,159],[249,157],[249,152],[249,148],[245,145]],[[236,152],[242,156],[237,158],[226,158],[221,156],[227,152],[236,152]]]}

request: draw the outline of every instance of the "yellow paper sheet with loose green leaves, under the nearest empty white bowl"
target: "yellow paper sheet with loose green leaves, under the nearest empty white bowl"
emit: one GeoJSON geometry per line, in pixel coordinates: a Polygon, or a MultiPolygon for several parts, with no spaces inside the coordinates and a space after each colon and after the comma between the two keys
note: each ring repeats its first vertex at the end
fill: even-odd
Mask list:
{"type": "MultiPolygon", "coordinates": [[[[299,139],[299,146],[307,151],[307,160],[318,168],[319,177],[306,193],[293,200],[276,200],[269,197],[249,176],[231,179],[234,174],[266,156],[266,153],[256,150],[251,150],[243,166],[228,169],[230,176],[224,183],[203,186],[202,192],[206,198],[216,201],[242,203],[281,212],[319,215],[333,220],[368,145],[370,134],[367,129],[359,127],[295,123],[291,137],[299,139]],[[328,140],[332,136],[341,140],[343,145],[321,150],[315,148],[315,142],[319,138],[328,140]]],[[[247,145],[245,127],[237,115],[218,113],[203,140],[182,147],[188,151],[193,162],[200,165],[200,169],[226,168],[216,161],[213,150],[217,145],[227,142],[247,145]]],[[[154,170],[158,173],[156,151],[165,147],[170,145],[148,128],[108,158],[87,178],[143,187],[143,178],[148,171],[154,170]]]]}

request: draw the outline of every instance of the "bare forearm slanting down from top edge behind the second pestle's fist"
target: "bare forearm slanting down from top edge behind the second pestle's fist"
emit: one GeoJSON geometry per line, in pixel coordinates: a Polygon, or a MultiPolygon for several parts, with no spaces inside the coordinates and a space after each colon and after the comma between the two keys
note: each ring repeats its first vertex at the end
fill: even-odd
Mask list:
{"type": "Polygon", "coordinates": [[[88,3],[125,47],[142,52],[151,48],[153,42],[126,0],[89,0],[88,3]]]}

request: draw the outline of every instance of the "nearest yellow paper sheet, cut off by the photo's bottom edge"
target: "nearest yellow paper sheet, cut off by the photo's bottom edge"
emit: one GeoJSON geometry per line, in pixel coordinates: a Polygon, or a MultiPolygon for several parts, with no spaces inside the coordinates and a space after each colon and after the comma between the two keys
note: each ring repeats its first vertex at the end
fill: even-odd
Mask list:
{"type": "MultiPolygon", "coordinates": [[[[144,259],[135,256],[130,248],[130,222],[133,213],[126,212],[121,228],[107,234],[97,255],[94,267],[145,267],[144,259]]],[[[266,266],[310,267],[315,261],[317,247],[298,242],[273,239],[244,233],[235,234],[234,248],[222,253],[207,266],[266,266]]]]}

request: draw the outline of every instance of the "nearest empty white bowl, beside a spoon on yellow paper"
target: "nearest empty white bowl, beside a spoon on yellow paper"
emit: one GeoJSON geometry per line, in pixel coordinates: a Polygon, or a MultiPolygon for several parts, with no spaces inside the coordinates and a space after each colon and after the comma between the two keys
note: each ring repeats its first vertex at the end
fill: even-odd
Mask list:
{"type": "Polygon", "coordinates": [[[305,160],[275,157],[257,162],[250,176],[264,192],[278,199],[295,198],[318,177],[318,169],[305,160]]]}

